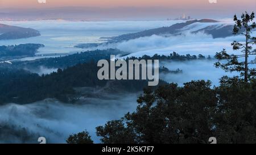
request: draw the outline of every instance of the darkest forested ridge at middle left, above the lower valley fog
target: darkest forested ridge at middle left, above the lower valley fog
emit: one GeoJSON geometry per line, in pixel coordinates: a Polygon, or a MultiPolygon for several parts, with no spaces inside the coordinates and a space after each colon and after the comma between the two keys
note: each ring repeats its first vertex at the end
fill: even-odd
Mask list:
{"type": "Polygon", "coordinates": [[[98,69],[94,61],[42,76],[26,70],[0,69],[0,104],[32,103],[46,98],[75,102],[75,87],[104,87],[108,84],[109,91],[137,92],[148,84],[147,80],[100,80],[98,69]]]}

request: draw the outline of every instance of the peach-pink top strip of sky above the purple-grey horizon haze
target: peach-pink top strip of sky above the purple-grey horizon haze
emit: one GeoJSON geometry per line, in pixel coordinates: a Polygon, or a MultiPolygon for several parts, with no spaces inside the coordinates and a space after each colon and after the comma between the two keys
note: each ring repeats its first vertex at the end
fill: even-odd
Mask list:
{"type": "Polygon", "coordinates": [[[256,5],[255,0],[0,0],[3,7],[63,7],[63,6],[90,6],[90,7],[226,7],[256,5]],[[39,3],[38,1],[46,1],[39,3]],[[217,1],[217,3],[214,3],[217,1]],[[210,3],[213,2],[213,3],[210,3]],[[241,3],[242,2],[242,3],[241,3]]]}

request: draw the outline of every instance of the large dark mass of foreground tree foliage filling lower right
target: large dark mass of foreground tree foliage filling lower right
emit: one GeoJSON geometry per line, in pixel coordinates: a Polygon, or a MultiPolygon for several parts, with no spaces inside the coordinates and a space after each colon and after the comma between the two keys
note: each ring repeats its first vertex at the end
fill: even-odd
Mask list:
{"type": "Polygon", "coordinates": [[[256,81],[222,78],[147,88],[137,111],[97,127],[102,143],[256,142],[256,81]],[[120,137],[120,138],[119,138],[120,137]]]}

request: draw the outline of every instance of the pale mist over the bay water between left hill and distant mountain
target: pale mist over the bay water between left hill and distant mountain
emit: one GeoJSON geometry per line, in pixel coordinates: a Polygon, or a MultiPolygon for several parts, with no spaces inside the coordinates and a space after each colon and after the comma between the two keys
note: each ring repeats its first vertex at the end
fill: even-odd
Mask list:
{"type": "Polygon", "coordinates": [[[74,46],[80,43],[101,43],[100,37],[118,36],[124,33],[133,33],[171,26],[183,21],[98,21],[72,22],[66,20],[39,20],[26,22],[1,21],[2,24],[29,27],[40,31],[41,36],[18,40],[0,40],[1,45],[15,45],[26,43],[44,44],[38,54],[46,53],[75,53],[82,49],[74,46]]]}

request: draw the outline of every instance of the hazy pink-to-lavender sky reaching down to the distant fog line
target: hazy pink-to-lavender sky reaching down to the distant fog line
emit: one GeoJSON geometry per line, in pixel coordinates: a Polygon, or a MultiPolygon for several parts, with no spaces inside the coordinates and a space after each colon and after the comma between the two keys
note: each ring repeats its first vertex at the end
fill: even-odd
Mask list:
{"type": "Polygon", "coordinates": [[[21,18],[21,15],[23,18],[40,14],[47,18],[68,16],[68,18],[84,17],[85,19],[166,19],[179,18],[183,13],[194,18],[228,18],[245,10],[255,11],[255,8],[255,0],[0,0],[0,18],[2,18],[1,13],[6,18],[14,18],[14,16],[21,18]],[[71,7],[86,9],[70,10],[71,7]],[[53,10],[53,8],[59,9],[53,10]],[[29,12],[32,9],[34,11],[40,9],[42,12],[36,12],[39,10],[29,12]],[[19,10],[23,11],[22,14],[19,14],[19,10]],[[8,14],[12,11],[16,11],[16,14],[8,14]]]}

